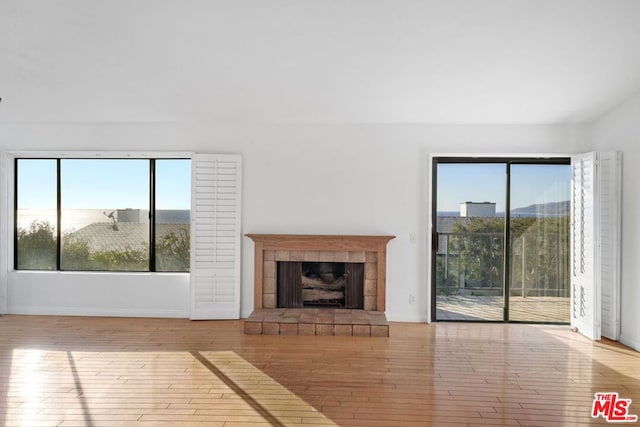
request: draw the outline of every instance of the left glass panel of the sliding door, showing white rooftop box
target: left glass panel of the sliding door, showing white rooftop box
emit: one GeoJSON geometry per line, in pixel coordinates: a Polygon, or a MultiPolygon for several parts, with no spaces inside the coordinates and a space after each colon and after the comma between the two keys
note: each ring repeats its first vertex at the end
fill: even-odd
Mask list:
{"type": "Polygon", "coordinates": [[[506,163],[436,163],[436,320],[504,320],[506,163]]]}

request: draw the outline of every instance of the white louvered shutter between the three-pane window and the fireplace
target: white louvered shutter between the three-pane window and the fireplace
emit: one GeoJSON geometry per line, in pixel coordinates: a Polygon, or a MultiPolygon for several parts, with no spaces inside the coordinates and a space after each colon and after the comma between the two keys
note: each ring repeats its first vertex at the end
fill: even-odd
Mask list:
{"type": "Polygon", "coordinates": [[[242,161],[192,158],[191,319],[240,317],[242,161]]]}

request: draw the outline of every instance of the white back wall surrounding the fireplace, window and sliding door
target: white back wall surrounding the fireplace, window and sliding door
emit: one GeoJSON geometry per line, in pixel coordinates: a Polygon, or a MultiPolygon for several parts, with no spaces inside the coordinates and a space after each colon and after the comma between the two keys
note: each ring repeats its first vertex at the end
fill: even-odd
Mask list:
{"type": "MultiPolygon", "coordinates": [[[[396,235],[388,246],[387,315],[426,321],[429,154],[567,153],[582,148],[583,132],[568,126],[0,124],[0,151],[240,153],[243,233],[396,235]],[[419,236],[417,243],[410,243],[410,234],[419,236]]],[[[242,252],[241,310],[247,316],[253,309],[247,238],[242,252]]],[[[187,282],[180,276],[14,272],[8,312],[153,315],[155,309],[180,315],[187,282]],[[139,291],[156,283],[158,299],[149,301],[139,291]]]]}

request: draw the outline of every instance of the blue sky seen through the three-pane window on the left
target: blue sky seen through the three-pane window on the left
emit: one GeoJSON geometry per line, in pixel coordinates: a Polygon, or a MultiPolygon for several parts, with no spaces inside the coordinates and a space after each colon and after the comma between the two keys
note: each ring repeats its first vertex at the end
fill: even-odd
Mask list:
{"type": "MultiPolygon", "coordinates": [[[[148,209],[149,160],[63,159],[63,209],[148,209]]],[[[18,207],[56,207],[56,161],[21,159],[18,207]]],[[[190,209],[190,160],[156,161],[156,208],[190,209]]]]}

